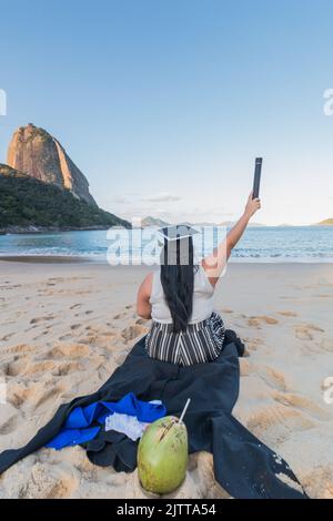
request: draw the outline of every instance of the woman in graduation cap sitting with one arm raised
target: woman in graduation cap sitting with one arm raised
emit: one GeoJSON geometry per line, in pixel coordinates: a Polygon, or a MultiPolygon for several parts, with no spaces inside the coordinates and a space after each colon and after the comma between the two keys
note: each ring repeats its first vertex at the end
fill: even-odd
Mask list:
{"type": "Polygon", "coordinates": [[[232,248],[260,207],[260,200],[252,200],[251,193],[241,218],[200,264],[194,263],[193,254],[192,235],[196,232],[181,225],[164,228],[160,269],[144,278],[137,302],[138,314],[152,318],[145,337],[150,357],[191,366],[220,355],[225,329],[213,309],[215,286],[232,248]]]}

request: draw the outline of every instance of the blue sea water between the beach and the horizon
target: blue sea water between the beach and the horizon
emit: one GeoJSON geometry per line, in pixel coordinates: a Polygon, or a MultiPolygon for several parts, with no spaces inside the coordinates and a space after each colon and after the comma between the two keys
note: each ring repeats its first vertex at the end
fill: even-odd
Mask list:
{"type": "MultiPolygon", "coordinates": [[[[218,235],[206,231],[196,235],[198,256],[209,254],[226,229],[218,235]],[[215,243],[214,243],[215,241],[215,243]]],[[[0,255],[79,256],[113,264],[153,264],[155,233],[141,231],[84,231],[0,236],[0,255]],[[152,239],[152,237],[154,237],[152,239]],[[115,260],[118,259],[118,262],[115,260]]],[[[233,262],[331,262],[333,226],[249,227],[232,253],[233,262]]]]}

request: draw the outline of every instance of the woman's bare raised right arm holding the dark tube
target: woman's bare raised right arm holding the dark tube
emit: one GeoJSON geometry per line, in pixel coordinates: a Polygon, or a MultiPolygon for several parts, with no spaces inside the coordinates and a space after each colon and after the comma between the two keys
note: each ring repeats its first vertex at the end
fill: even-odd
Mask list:
{"type": "Polygon", "coordinates": [[[221,244],[219,244],[216,248],[214,248],[211,255],[208,255],[202,260],[202,266],[213,286],[218,283],[220,275],[228,263],[231,252],[243,235],[250,218],[252,217],[252,215],[255,214],[255,212],[260,207],[260,200],[253,200],[251,192],[243,215],[226,234],[225,239],[221,244]]]}

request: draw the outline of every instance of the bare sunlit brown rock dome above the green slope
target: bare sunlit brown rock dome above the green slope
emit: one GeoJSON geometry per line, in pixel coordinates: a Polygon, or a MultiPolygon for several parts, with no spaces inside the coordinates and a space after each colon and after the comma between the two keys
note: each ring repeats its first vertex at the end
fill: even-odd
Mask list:
{"type": "Polygon", "coordinates": [[[13,134],[7,163],[16,171],[69,190],[81,201],[97,206],[89,192],[89,183],[72,162],[60,142],[46,130],[29,123],[13,134]]]}

